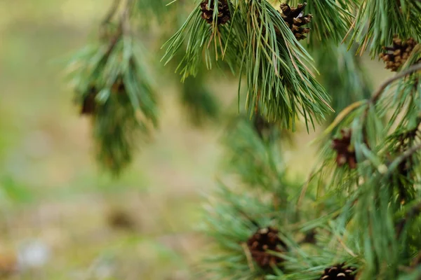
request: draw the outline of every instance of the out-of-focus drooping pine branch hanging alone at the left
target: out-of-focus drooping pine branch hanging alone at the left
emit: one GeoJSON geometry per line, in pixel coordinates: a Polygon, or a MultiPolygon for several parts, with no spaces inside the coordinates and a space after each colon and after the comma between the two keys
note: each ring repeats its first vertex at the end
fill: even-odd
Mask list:
{"type": "Polygon", "coordinates": [[[117,22],[112,21],[116,10],[110,10],[102,38],[69,63],[76,104],[92,120],[98,162],[114,174],[131,162],[138,138],[145,139],[157,123],[151,78],[130,30],[132,5],[126,1],[117,22]]]}

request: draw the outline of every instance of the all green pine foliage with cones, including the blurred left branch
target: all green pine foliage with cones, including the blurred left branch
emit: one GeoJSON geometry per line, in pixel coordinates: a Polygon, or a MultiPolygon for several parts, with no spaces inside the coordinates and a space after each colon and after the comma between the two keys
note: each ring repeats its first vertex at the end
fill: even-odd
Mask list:
{"type": "Polygon", "coordinates": [[[420,1],[123,2],[107,36],[72,64],[101,162],[121,170],[134,133],[156,123],[128,15],[191,8],[162,60],[185,82],[194,118],[219,109],[205,68],[227,66],[246,82],[246,112],[222,141],[226,174],[203,214],[214,246],[199,279],[421,279],[420,1]],[[375,90],[356,56],[365,50],[396,71],[375,90]],[[285,130],[323,120],[318,164],[292,180],[285,130]]]}

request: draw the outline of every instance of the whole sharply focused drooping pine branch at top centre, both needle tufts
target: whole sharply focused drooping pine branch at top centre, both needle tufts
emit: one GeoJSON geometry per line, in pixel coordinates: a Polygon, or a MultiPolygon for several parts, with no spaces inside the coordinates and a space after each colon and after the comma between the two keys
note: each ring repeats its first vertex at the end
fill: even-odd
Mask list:
{"type": "Polygon", "coordinates": [[[266,0],[202,1],[164,45],[164,58],[171,59],[185,38],[187,50],[178,67],[182,79],[195,75],[202,59],[208,67],[224,59],[237,75],[246,76],[251,113],[260,106],[269,120],[285,127],[295,127],[302,116],[309,127],[330,112],[327,94],[310,72],[312,58],[266,0]],[[223,17],[224,7],[229,8],[227,22],[212,20],[223,17]]]}

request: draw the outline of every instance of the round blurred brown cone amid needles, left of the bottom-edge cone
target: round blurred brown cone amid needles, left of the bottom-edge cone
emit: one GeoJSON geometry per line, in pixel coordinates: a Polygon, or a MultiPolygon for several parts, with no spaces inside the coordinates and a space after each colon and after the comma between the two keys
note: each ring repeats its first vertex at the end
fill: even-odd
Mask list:
{"type": "Polygon", "coordinates": [[[286,244],[278,237],[278,230],[275,228],[261,228],[247,241],[248,250],[250,250],[253,260],[260,267],[270,267],[278,265],[283,261],[282,258],[272,255],[269,251],[286,251],[286,244]]]}

